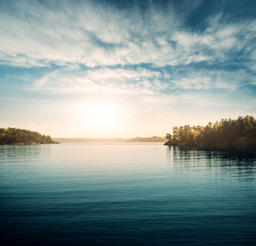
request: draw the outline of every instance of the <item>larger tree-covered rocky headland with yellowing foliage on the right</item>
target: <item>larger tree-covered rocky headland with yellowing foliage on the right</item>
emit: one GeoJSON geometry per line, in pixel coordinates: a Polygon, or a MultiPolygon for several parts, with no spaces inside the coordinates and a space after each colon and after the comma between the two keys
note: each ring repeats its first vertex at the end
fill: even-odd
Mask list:
{"type": "Polygon", "coordinates": [[[221,119],[205,127],[184,125],[173,127],[166,134],[169,146],[247,146],[256,147],[256,119],[239,116],[238,119],[221,119]]]}

